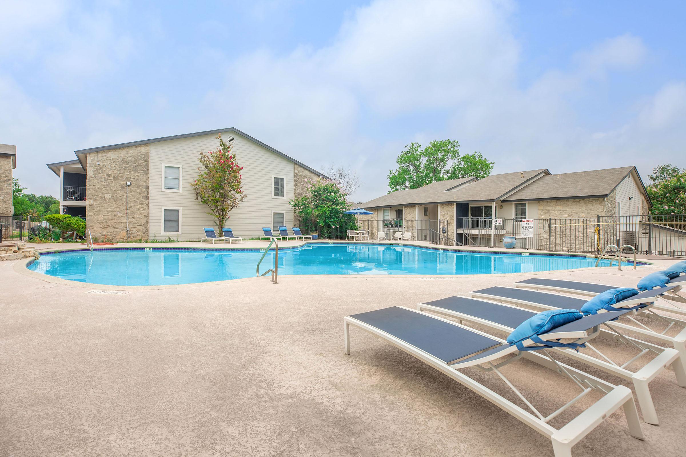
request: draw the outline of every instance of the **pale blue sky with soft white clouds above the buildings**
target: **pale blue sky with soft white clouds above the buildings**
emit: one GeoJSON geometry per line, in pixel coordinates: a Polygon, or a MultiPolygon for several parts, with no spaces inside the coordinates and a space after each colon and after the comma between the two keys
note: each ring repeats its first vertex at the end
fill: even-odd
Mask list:
{"type": "Polygon", "coordinates": [[[75,149],[237,127],[364,201],[403,146],[495,172],[686,166],[681,2],[3,1],[0,143],[16,177],[75,149]]]}

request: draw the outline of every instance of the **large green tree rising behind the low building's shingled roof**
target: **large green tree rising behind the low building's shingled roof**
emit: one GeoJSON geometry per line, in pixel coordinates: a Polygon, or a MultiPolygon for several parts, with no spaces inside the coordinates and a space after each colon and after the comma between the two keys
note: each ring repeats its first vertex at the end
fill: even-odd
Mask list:
{"type": "Polygon", "coordinates": [[[489,162],[480,152],[461,155],[456,140],[434,140],[423,149],[419,143],[405,146],[396,163],[398,168],[388,172],[390,192],[460,177],[481,179],[490,175],[495,162],[489,162]]]}

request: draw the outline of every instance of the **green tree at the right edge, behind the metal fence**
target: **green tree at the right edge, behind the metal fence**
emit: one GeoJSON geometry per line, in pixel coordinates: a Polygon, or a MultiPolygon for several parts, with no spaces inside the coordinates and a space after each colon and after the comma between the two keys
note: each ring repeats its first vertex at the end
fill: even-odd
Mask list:
{"type": "Polygon", "coordinates": [[[652,214],[686,214],[686,169],[662,164],[648,175],[646,187],[652,201],[652,214]]]}

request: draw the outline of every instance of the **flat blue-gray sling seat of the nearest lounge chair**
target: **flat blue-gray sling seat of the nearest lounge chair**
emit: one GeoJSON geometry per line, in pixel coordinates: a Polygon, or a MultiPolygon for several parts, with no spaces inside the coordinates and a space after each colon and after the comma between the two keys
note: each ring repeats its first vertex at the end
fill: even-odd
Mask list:
{"type": "Polygon", "coordinates": [[[397,306],[351,316],[450,363],[500,342],[470,330],[397,306]]]}

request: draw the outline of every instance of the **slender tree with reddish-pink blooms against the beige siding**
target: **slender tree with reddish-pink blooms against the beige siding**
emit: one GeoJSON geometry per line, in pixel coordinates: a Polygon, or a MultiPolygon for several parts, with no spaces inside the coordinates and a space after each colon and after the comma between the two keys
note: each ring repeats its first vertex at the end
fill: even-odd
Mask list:
{"type": "Polygon", "coordinates": [[[216,151],[201,152],[198,162],[200,174],[191,182],[196,200],[202,201],[208,208],[219,232],[226,226],[228,213],[238,208],[246,194],[241,189],[242,170],[236,161],[236,155],[231,151],[233,145],[226,143],[222,135],[218,135],[219,147],[216,151]]]}

